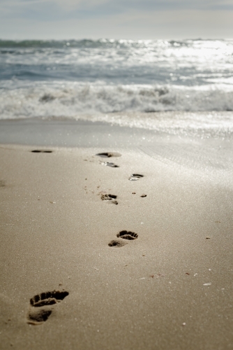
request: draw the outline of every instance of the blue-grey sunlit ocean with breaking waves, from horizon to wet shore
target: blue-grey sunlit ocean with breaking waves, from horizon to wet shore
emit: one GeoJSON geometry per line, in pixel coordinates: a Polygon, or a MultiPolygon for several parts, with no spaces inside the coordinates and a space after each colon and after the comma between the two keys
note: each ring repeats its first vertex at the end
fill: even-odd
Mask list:
{"type": "Polygon", "coordinates": [[[140,127],[232,133],[232,72],[233,39],[1,40],[0,118],[128,125],[142,113],[140,127]]]}

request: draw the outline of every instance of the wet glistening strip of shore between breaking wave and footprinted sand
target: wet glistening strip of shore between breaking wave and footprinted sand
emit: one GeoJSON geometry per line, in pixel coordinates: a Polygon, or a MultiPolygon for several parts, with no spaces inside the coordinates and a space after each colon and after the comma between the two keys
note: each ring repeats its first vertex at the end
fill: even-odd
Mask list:
{"type": "MultiPolygon", "coordinates": [[[[33,133],[33,137],[38,139],[38,132],[44,136],[52,135],[50,139],[38,139],[43,144],[51,144],[54,146],[66,146],[63,139],[69,145],[69,138],[73,134],[80,134],[80,128],[87,134],[95,134],[100,131],[106,133],[105,144],[96,144],[95,139],[91,139],[90,146],[111,146],[110,138],[107,132],[115,132],[115,134],[126,134],[132,139],[133,135],[141,142],[142,137],[155,139],[191,139],[191,140],[213,140],[213,141],[232,141],[233,138],[233,112],[232,111],[163,111],[163,112],[115,112],[115,113],[96,113],[96,114],[80,114],[75,118],[70,117],[35,117],[35,118],[13,118],[0,119],[0,143],[18,143],[33,144],[33,138],[25,139],[29,133],[33,133]],[[20,139],[18,133],[21,134],[20,139]],[[7,134],[7,136],[6,136],[7,134]],[[18,141],[15,141],[16,137],[18,141]],[[57,141],[57,143],[56,143],[57,141]],[[93,144],[94,143],[94,144],[93,144]]],[[[98,137],[100,138],[100,135],[98,137]]],[[[132,141],[132,140],[131,140],[132,141]]],[[[74,144],[74,143],[73,143],[74,144]]],[[[77,146],[83,146],[84,140],[77,146]]],[[[112,146],[117,146],[117,140],[112,146]]],[[[122,146],[126,146],[126,140],[122,146]]],[[[128,143],[127,146],[132,146],[128,143]]]]}

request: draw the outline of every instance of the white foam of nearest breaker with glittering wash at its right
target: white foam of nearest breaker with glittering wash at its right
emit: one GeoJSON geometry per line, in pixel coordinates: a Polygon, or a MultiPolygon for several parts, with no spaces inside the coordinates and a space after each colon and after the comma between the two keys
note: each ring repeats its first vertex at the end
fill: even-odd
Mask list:
{"type": "Polygon", "coordinates": [[[229,86],[34,85],[24,82],[17,89],[5,87],[0,94],[1,118],[75,118],[169,134],[233,134],[233,89],[229,86]]]}

